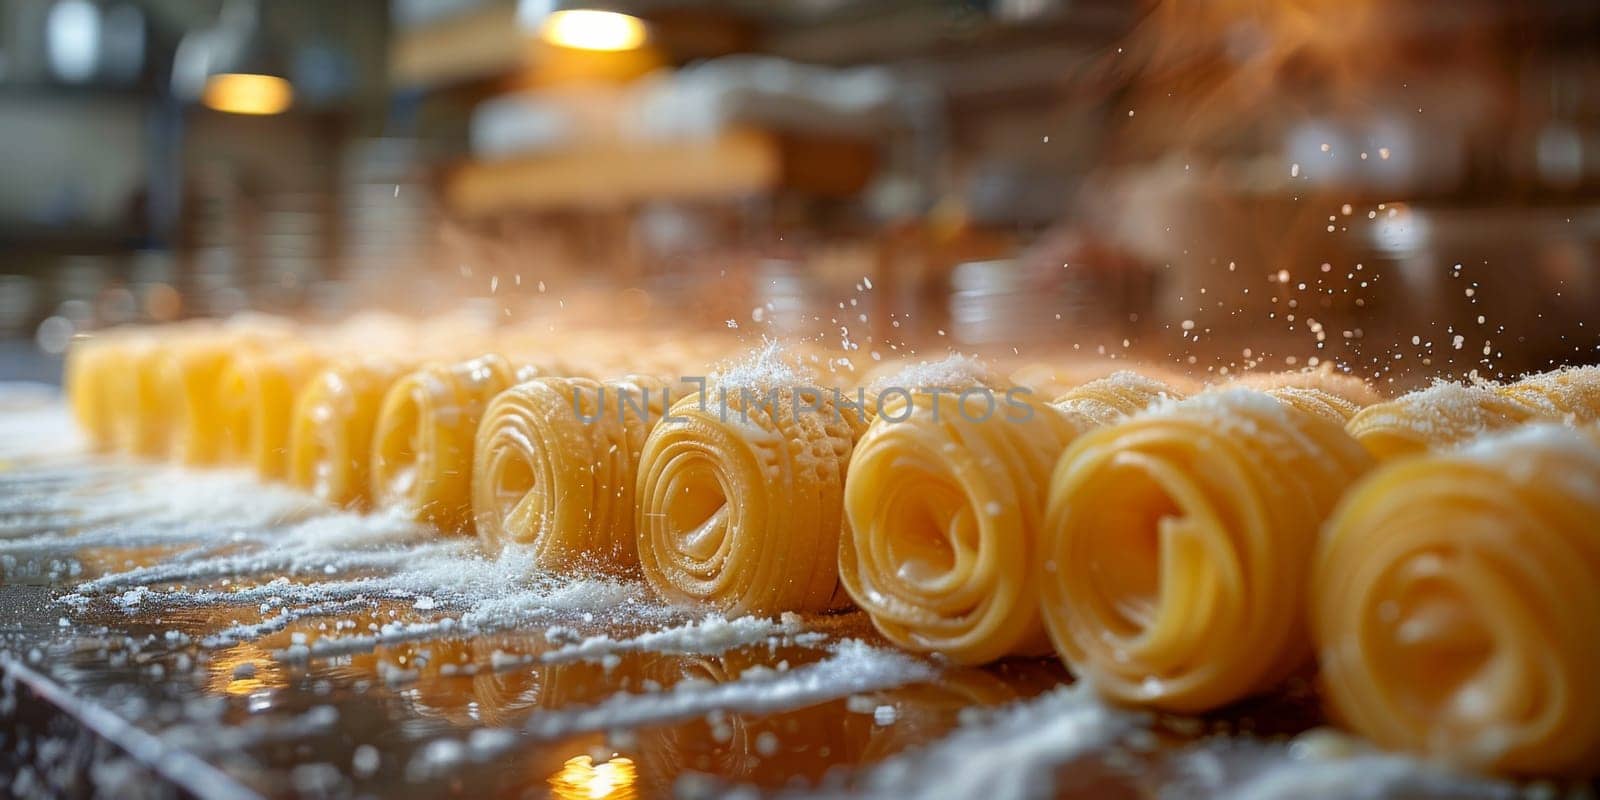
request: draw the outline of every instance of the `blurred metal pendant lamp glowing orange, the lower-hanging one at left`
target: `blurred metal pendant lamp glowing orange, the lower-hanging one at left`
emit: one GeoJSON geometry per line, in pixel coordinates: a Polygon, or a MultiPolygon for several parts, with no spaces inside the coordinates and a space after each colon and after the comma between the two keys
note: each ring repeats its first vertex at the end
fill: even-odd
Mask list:
{"type": "Polygon", "coordinates": [[[173,94],[227,114],[282,114],[294,104],[256,0],[227,0],[214,27],[184,37],[173,56],[173,94]]]}

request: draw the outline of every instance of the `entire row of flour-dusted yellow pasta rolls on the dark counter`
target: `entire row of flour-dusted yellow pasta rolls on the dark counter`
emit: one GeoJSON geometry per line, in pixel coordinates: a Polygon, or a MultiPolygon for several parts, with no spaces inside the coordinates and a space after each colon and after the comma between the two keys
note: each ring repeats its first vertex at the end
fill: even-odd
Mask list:
{"type": "Polygon", "coordinates": [[[1317,667],[1382,746],[1600,768],[1600,368],[1384,400],[1331,370],[1197,387],[768,346],[686,378],[728,352],[246,320],[80,339],[67,382],[96,446],[250,464],[544,570],[854,606],[962,664],[1054,651],[1173,712],[1317,667]]]}

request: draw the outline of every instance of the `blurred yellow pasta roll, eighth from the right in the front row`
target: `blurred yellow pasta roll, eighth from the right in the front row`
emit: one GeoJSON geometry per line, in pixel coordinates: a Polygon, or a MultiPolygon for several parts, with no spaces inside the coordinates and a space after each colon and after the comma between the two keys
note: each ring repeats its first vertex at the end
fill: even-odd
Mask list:
{"type": "Polygon", "coordinates": [[[322,363],[322,354],[299,342],[242,346],[218,378],[221,459],[248,464],[267,480],[286,477],[294,395],[322,363]]]}

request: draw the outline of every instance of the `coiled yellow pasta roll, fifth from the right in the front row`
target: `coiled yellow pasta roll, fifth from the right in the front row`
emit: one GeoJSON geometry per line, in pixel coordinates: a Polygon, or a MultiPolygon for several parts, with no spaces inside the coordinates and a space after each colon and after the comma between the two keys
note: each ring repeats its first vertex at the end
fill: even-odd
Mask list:
{"type": "MultiPolygon", "coordinates": [[[[659,378],[538,378],[478,424],[472,514],[490,549],[528,546],[546,570],[638,570],[638,453],[672,389],[659,378]]],[[[683,397],[683,392],[678,392],[683,397]]]]}

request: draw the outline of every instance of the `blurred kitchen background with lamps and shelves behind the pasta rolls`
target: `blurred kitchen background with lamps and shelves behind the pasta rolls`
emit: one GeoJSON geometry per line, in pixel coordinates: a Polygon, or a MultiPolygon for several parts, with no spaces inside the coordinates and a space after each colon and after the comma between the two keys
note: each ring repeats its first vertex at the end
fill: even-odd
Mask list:
{"type": "Polygon", "coordinates": [[[107,325],[462,304],[1595,362],[1600,3],[0,0],[0,378],[107,325]]]}

